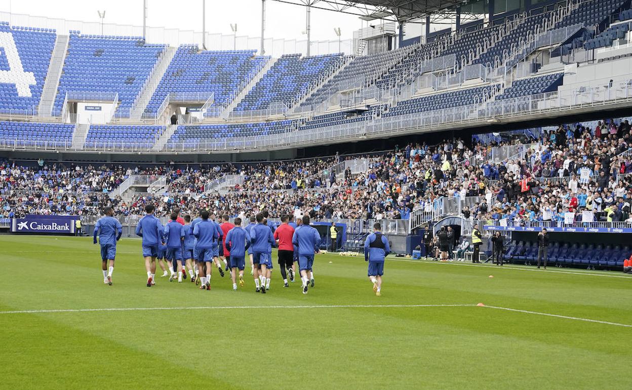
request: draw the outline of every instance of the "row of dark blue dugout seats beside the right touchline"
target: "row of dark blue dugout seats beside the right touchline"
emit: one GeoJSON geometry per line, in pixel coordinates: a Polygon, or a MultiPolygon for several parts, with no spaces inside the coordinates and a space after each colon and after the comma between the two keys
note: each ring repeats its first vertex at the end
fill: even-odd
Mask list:
{"type": "MultiPolygon", "coordinates": [[[[623,260],[632,255],[627,244],[568,243],[554,241],[549,245],[548,265],[579,265],[582,267],[623,267],[623,260]]],[[[538,260],[535,241],[511,241],[502,255],[507,262],[534,264],[538,260]]]]}

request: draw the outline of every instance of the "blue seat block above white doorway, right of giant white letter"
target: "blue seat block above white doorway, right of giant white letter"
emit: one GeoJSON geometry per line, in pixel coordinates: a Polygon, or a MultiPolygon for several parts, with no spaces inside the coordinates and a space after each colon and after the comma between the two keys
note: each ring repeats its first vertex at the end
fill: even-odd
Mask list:
{"type": "Polygon", "coordinates": [[[71,34],[56,113],[63,109],[66,92],[115,92],[119,108],[130,108],[164,48],[139,37],[71,34]]]}

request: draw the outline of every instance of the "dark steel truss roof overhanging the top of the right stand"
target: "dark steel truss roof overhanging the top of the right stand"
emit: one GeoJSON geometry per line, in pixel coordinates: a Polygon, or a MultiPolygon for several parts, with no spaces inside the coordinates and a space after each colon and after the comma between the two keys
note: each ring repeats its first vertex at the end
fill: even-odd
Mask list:
{"type": "Polygon", "coordinates": [[[363,20],[389,19],[410,21],[453,9],[468,0],[275,0],[280,3],[311,6],[351,15],[363,20]]]}

